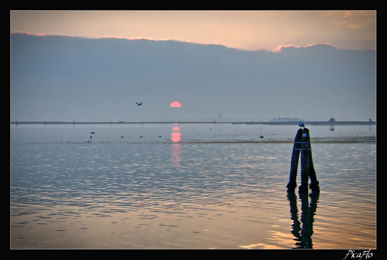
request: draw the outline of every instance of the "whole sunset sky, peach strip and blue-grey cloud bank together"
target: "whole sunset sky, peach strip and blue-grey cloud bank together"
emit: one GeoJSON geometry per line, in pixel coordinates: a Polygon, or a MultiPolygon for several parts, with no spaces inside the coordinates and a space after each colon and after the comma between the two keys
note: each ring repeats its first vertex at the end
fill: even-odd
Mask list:
{"type": "Polygon", "coordinates": [[[10,68],[11,121],[376,121],[376,11],[11,11],[10,68]]]}

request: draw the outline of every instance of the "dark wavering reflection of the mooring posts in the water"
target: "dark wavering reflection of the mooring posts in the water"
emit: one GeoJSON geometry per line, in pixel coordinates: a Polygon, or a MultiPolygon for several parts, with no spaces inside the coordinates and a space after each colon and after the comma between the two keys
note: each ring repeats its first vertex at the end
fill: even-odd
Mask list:
{"type": "Polygon", "coordinates": [[[291,233],[296,238],[296,247],[294,248],[313,248],[313,222],[316,215],[317,204],[320,193],[301,193],[301,221],[299,220],[297,197],[295,193],[288,193],[287,197],[290,204],[290,218],[293,220],[291,233]],[[310,205],[309,205],[310,197],[310,205]],[[301,227],[302,223],[302,227],[301,227]]]}

